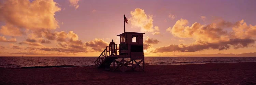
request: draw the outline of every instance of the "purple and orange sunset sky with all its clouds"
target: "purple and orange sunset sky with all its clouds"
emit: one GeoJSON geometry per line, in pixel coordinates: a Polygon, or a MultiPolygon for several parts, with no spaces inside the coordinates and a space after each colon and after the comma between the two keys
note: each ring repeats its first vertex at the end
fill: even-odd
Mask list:
{"type": "Polygon", "coordinates": [[[0,56],[99,56],[141,32],[145,56],[256,52],[255,0],[1,0],[0,56]]]}

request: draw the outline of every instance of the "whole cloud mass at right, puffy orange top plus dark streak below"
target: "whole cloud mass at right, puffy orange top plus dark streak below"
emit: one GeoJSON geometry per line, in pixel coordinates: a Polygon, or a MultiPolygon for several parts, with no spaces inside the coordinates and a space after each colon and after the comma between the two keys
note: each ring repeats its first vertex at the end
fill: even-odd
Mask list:
{"type": "Polygon", "coordinates": [[[176,37],[193,38],[196,42],[185,45],[169,45],[156,48],[154,52],[195,52],[204,49],[234,49],[252,46],[255,43],[256,26],[248,26],[244,20],[235,23],[219,19],[208,25],[195,22],[191,27],[186,26],[188,21],[180,19],[167,31],[176,37]],[[232,28],[230,32],[225,28],[232,28]]]}

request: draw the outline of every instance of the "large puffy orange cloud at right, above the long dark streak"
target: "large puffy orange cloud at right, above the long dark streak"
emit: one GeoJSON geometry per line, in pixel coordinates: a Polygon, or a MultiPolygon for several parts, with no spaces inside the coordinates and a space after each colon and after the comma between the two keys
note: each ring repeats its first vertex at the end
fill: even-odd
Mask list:
{"type": "Polygon", "coordinates": [[[234,38],[245,39],[256,37],[256,26],[251,24],[248,26],[244,20],[235,23],[219,20],[208,25],[195,22],[191,27],[186,26],[187,23],[188,21],[186,19],[180,19],[176,21],[172,28],[168,28],[167,31],[176,37],[193,38],[209,43],[217,43],[234,38]],[[232,28],[231,32],[224,30],[230,27],[232,28]]]}

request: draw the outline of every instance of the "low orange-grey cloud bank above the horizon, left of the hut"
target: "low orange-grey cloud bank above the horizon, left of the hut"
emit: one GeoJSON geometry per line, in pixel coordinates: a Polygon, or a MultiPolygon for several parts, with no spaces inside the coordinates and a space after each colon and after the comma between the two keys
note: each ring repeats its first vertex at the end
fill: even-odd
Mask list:
{"type": "MultiPolygon", "coordinates": [[[[38,39],[41,40],[41,39],[38,39]]],[[[74,54],[74,53],[86,53],[86,52],[101,52],[108,44],[100,38],[95,38],[92,41],[88,41],[82,44],[76,44],[70,41],[59,42],[57,47],[45,47],[38,43],[37,39],[26,39],[19,44],[27,44],[29,47],[20,47],[11,45],[13,52],[3,52],[9,54],[28,54],[28,55],[44,55],[44,54],[74,54]],[[31,47],[32,46],[32,47],[31,47]],[[46,52],[47,51],[47,52],[46,52]],[[31,54],[31,52],[33,52],[31,54]]],[[[72,39],[71,39],[72,40],[72,39]]],[[[74,40],[75,41],[75,40],[74,40]]],[[[81,40],[76,40],[81,41],[81,40]]]]}

